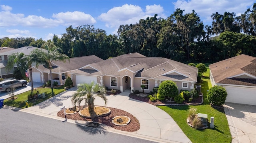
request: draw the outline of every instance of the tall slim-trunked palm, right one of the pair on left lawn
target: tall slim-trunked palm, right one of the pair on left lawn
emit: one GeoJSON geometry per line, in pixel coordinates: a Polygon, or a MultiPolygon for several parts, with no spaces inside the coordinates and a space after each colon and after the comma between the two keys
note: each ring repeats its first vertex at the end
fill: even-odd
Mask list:
{"type": "Polygon", "coordinates": [[[69,57],[66,54],[59,53],[58,50],[60,50],[60,48],[50,41],[44,43],[41,48],[42,49],[35,49],[32,51],[31,55],[32,57],[37,57],[38,62],[46,65],[50,70],[52,95],[54,95],[52,83],[52,61],[62,61],[65,63],[66,59],[68,59],[69,62],[69,57]]]}

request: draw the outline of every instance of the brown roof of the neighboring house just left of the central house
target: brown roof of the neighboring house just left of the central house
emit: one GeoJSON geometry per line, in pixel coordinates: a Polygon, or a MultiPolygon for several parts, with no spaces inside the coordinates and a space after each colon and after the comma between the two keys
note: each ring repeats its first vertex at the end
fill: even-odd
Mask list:
{"type": "MultiPolygon", "coordinates": [[[[85,65],[97,63],[100,61],[103,61],[103,59],[100,59],[95,55],[70,58],[70,61],[68,62],[68,60],[66,60],[65,63],[62,61],[53,61],[52,73],[68,72],[84,67],[85,65]]],[[[44,65],[39,65],[37,69],[42,72],[50,73],[50,70],[44,65]]]]}

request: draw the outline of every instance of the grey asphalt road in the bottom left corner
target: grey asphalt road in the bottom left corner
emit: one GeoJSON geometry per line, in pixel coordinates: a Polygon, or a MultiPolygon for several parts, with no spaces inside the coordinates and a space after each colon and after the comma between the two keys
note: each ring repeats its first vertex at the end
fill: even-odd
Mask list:
{"type": "Polygon", "coordinates": [[[6,108],[0,109],[0,143],[154,143],[6,108]]]}

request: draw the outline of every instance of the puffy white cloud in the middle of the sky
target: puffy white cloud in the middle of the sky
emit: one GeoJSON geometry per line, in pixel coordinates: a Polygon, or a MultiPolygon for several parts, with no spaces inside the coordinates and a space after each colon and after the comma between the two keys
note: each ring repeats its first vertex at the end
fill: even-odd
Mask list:
{"type": "Polygon", "coordinates": [[[108,12],[101,14],[98,19],[106,22],[106,27],[117,29],[122,24],[136,24],[140,19],[154,17],[154,14],[166,18],[164,10],[160,5],[146,6],[145,12],[140,6],[124,4],[121,7],[114,7],[108,12]]]}

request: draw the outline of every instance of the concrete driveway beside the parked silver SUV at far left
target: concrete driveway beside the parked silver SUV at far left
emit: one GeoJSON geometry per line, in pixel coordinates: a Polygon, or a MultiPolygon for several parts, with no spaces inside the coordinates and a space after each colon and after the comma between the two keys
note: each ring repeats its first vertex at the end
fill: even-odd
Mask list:
{"type": "MultiPolygon", "coordinates": [[[[34,88],[40,87],[40,86],[42,86],[43,84],[44,84],[44,83],[33,82],[34,88]]],[[[18,87],[18,88],[16,88],[14,94],[15,94],[15,95],[21,94],[21,93],[26,92],[26,91],[28,91],[28,90],[31,90],[31,83],[30,83],[30,82],[28,82],[27,86],[25,86],[25,87],[18,87]]],[[[10,97],[10,96],[9,96],[10,93],[11,93],[11,92],[5,92],[5,91],[0,92],[0,98],[3,98],[3,99],[9,98],[9,97],[10,97]]]]}

